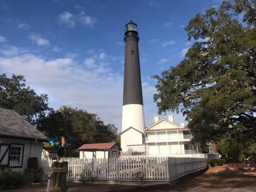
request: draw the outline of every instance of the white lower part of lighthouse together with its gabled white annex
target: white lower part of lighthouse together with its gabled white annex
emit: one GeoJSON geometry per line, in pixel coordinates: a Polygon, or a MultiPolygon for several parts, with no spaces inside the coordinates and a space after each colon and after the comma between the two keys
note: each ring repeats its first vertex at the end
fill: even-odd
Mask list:
{"type": "Polygon", "coordinates": [[[143,105],[123,106],[121,148],[123,155],[145,153],[145,120],[143,105]]]}

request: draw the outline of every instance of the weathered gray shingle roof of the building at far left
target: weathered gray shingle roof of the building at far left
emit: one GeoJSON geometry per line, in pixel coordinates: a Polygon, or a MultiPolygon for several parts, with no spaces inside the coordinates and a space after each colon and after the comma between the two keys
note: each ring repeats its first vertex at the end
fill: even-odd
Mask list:
{"type": "Polygon", "coordinates": [[[17,112],[0,107],[0,136],[45,140],[45,135],[17,112]]]}

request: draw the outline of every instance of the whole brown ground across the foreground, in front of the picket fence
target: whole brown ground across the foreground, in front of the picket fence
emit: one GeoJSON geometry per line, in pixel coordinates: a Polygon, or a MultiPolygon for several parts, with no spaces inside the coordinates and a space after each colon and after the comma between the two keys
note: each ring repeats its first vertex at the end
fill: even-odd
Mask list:
{"type": "MultiPolygon", "coordinates": [[[[212,167],[204,173],[190,174],[179,180],[177,185],[167,188],[166,186],[143,187],[134,189],[134,186],[118,185],[83,185],[82,183],[67,183],[68,192],[104,192],[104,191],[147,191],[147,192],[255,192],[256,191],[256,167],[246,167],[239,164],[227,164],[212,167]],[[130,189],[129,189],[130,188],[130,189]],[[126,189],[126,190],[125,190],[126,189]],[[128,189],[128,190],[127,190],[128,189]]],[[[15,190],[5,192],[44,192],[46,183],[23,186],[15,190]]],[[[52,189],[53,191],[60,191],[52,189]]],[[[1,191],[4,192],[4,191],[1,191]]]]}

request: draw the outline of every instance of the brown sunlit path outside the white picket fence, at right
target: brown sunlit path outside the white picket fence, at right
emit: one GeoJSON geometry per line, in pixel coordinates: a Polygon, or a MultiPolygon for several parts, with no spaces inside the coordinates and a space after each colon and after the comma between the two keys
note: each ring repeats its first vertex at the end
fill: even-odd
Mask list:
{"type": "MultiPolygon", "coordinates": [[[[139,190],[138,190],[139,191],[139,190]]],[[[238,164],[215,166],[205,173],[183,178],[170,189],[147,190],[148,192],[255,192],[256,167],[244,167],[238,164]]]]}

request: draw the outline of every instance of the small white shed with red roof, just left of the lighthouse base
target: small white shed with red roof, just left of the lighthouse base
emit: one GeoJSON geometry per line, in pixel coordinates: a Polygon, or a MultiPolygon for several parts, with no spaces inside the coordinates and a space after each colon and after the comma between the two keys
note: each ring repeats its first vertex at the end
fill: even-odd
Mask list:
{"type": "Polygon", "coordinates": [[[77,149],[79,158],[117,158],[121,154],[121,147],[117,142],[84,144],[77,149]]]}

